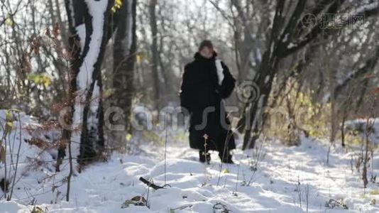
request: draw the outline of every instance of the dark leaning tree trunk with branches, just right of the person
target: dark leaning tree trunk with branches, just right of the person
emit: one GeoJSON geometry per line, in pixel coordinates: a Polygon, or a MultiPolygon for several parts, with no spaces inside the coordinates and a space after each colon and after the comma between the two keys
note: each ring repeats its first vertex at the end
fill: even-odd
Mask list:
{"type": "MultiPolygon", "coordinates": [[[[346,0],[332,1],[326,0],[320,2],[311,11],[314,16],[319,16],[319,13],[333,14],[333,17],[338,15],[341,5],[346,0]]],[[[248,114],[246,114],[246,128],[245,136],[243,138],[243,149],[253,148],[256,139],[258,138],[261,128],[265,122],[266,115],[263,114],[265,107],[267,106],[268,97],[271,92],[271,87],[275,75],[278,72],[278,65],[282,58],[287,57],[301,50],[309,43],[313,42],[319,35],[324,35],[324,38],[329,38],[329,35],[339,32],[335,28],[324,28],[324,22],[316,23],[312,28],[304,26],[305,18],[303,12],[305,9],[306,1],[287,2],[287,4],[294,5],[293,11],[288,11],[284,14],[285,0],[278,0],[275,16],[273,21],[273,27],[271,29],[270,38],[267,49],[263,54],[263,60],[259,66],[258,73],[254,77],[253,82],[258,85],[260,93],[256,99],[250,104],[248,114]],[[308,32],[305,32],[308,31],[308,32]]],[[[287,5],[288,6],[288,5],[287,5]]],[[[291,5],[289,5],[291,6],[291,5]]],[[[377,7],[358,11],[353,15],[366,15],[375,16],[378,14],[379,9],[377,7]]],[[[356,21],[348,24],[354,24],[356,21]]]]}

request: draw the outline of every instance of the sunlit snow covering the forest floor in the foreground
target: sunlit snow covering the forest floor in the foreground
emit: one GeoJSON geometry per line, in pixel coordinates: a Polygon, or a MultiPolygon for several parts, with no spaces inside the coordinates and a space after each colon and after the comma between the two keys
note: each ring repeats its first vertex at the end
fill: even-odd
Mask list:
{"type": "MultiPolygon", "coordinates": [[[[18,141],[15,133],[13,136],[18,141]]],[[[23,145],[13,200],[6,202],[3,197],[0,212],[31,212],[35,206],[46,212],[203,213],[225,209],[230,212],[379,212],[379,204],[375,204],[379,198],[378,184],[369,182],[368,188],[363,189],[361,173],[355,168],[356,154],[336,146],[331,148],[326,163],[326,141],[302,138],[299,147],[260,141],[254,151],[234,151],[236,165],[223,164],[220,168],[216,152],[212,153],[210,165],[198,162],[197,151],[188,148],[185,131],[169,131],[168,138],[166,166],[165,148],[155,143],[142,143],[141,155],[114,153],[108,162],[94,163],[75,175],[70,202],[65,202],[67,163],[61,173],[55,173],[51,155],[36,155],[37,148],[23,145]],[[31,168],[31,158],[47,162],[31,168]],[[156,185],[167,185],[165,189],[148,190],[138,180],[140,177],[156,185]],[[121,208],[126,200],[136,196],[144,197],[148,207],[129,204],[121,208]],[[333,208],[326,207],[330,200],[329,206],[333,208]]],[[[376,154],[373,166],[375,175],[379,173],[376,154]]],[[[370,175],[371,168],[368,178],[370,175]]]]}

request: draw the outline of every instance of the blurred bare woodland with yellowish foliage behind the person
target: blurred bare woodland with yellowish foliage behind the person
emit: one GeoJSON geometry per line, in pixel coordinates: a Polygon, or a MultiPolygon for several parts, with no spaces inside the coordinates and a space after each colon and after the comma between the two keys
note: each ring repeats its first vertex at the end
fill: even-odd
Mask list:
{"type": "MultiPolygon", "coordinates": [[[[75,84],[92,94],[96,84],[80,83],[72,45],[90,37],[89,28],[81,28],[90,21],[87,1],[72,2],[1,0],[0,109],[21,109],[60,129],[62,109],[75,105],[75,84]]],[[[301,133],[345,143],[353,141],[346,139],[345,121],[378,115],[378,1],[106,3],[100,50],[81,44],[82,50],[98,54],[93,73],[100,75],[91,79],[100,86],[101,101],[92,110],[86,97],[79,119],[86,123],[96,114],[97,124],[82,128],[101,146],[102,131],[106,138],[116,137],[108,145],[123,144],[133,135],[135,107],[158,111],[179,105],[182,69],[206,38],[240,85],[226,105],[238,107],[231,116],[234,129],[244,133],[243,148],[252,148],[262,131],[289,145],[300,143],[301,133]],[[241,94],[248,102],[240,101],[241,94]],[[127,128],[121,135],[101,127],[104,109],[112,106],[123,112],[119,122],[127,128]],[[260,117],[263,125],[254,125],[260,117]]],[[[85,53],[78,54],[80,59],[85,53]]],[[[67,117],[72,116],[69,110],[67,117]]]]}

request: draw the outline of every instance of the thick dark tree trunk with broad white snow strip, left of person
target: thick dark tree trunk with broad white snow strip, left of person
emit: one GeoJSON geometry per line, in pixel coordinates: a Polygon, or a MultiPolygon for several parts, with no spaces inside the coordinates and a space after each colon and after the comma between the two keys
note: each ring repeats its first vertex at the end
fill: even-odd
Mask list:
{"type": "Polygon", "coordinates": [[[101,62],[109,39],[109,17],[113,1],[66,0],[69,23],[70,110],[66,121],[71,128],[62,133],[58,166],[65,156],[65,144],[72,143],[73,158],[79,164],[97,158],[104,149],[104,111],[101,94],[101,62]]]}

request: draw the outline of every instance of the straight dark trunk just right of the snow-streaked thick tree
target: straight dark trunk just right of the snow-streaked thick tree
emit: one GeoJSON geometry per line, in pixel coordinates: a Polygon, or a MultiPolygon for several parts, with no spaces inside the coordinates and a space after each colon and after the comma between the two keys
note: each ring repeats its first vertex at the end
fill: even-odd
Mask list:
{"type": "Polygon", "coordinates": [[[116,121],[126,129],[111,129],[114,145],[125,145],[126,131],[130,131],[133,99],[133,70],[136,62],[136,0],[123,1],[114,39],[114,106],[122,109],[123,118],[116,121]],[[125,131],[126,130],[126,131],[125,131]]]}

